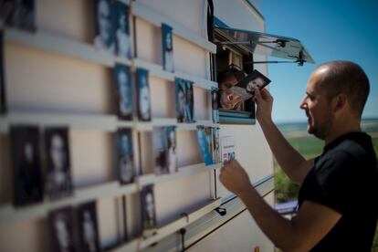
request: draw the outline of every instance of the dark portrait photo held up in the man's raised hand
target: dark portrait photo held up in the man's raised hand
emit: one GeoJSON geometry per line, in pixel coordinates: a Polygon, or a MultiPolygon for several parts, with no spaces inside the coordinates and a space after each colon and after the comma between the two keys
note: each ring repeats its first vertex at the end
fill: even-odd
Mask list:
{"type": "Polygon", "coordinates": [[[254,96],[255,89],[264,89],[270,83],[265,75],[257,70],[248,74],[245,79],[240,80],[235,87],[230,90],[235,92],[242,100],[248,100],[254,96]]]}

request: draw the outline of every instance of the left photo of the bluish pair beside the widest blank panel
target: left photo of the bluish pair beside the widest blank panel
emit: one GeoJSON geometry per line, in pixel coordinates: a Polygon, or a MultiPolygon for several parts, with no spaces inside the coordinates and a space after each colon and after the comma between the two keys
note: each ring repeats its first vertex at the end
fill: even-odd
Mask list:
{"type": "Polygon", "coordinates": [[[117,113],[122,120],[132,120],[132,82],[129,66],[116,64],[114,77],[117,84],[117,113]]]}

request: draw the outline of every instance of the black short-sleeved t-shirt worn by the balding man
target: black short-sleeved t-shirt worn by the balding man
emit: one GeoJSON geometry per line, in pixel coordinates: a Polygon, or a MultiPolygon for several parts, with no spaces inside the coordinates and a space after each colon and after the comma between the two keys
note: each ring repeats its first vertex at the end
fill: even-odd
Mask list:
{"type": "Polygon", "coordinates": [[[370,251],[378,216],[378,168],[371,137],[352,132],[325,146],[300,187],[299,208],[304,201],[342,215],[311,251],[370,251]]]}

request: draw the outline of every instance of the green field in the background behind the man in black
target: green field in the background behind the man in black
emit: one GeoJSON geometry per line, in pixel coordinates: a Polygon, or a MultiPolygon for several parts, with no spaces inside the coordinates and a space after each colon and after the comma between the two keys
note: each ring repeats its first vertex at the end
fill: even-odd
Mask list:
{"type": "MultiPolygon", "coordinates": [[[[287,123],[278,125],[278,128],[289,143],[306,159],[316,157],[323,151],[324,143],[307,134],[305,123],[287,123]]],[[[378,156],[378,120],[362,121],[362,131],[366,131],[372,136],[375,153],[378,156]]],[[[297,199],[299,186],[290,182],[276,161],[274,170],[276,201],[280,203],[297,199]]],[[[375,233],[372,251],[378,251],[378,229],[375,233]]]]}

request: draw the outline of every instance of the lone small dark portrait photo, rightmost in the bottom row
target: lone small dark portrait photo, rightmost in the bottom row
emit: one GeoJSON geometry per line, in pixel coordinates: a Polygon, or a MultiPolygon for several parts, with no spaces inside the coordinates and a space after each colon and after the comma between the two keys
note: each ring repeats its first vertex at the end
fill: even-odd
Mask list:
{"type": "Polygon", "coordinates": [[[142,226],[143,230],[151,230],[156,228],[156,211],[155,197],[153,194],[153,185],[146,185],[141,191],[142,203],[142,226]]]}

